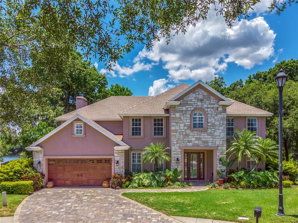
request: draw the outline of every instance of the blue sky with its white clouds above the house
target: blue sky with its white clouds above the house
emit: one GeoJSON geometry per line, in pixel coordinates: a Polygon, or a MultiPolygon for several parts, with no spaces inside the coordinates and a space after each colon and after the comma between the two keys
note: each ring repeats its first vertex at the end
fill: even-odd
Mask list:
{"type": "Polygon", "coordinates": [[[103,62],[92,62],[106,72],[109,85],[127,86],[134,96],[156,95],[179,83],[210,81],[214,76],[224,77],[229,85],[298,58],[298,5],[278,16],[267,13],[269,3],[261,0],[250,18],[237,21],[232,29],[210,13],[186,35],[173,36],[169,45],[161,40],[150,51],[137,45],[113,65],[112,73],[106,72],[103,62]]]}

